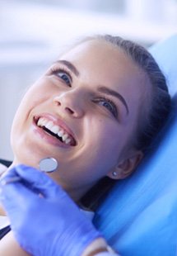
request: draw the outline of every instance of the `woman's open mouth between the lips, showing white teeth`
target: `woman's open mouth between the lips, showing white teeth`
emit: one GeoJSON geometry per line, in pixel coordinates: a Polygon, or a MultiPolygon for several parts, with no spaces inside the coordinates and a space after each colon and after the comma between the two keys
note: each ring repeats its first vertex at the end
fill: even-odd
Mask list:
{"type": "Polygon", "coordinates": [[[63,127],[54,124],[53,121],[47,118],[35,118],[35,124],[49,135],[53,136],[57,140],[60,140],[63,144],[70,146],[77,145],[76,140],[73,138],[72,135],[68,134],[68,132],[64,130],[63,127]]]}

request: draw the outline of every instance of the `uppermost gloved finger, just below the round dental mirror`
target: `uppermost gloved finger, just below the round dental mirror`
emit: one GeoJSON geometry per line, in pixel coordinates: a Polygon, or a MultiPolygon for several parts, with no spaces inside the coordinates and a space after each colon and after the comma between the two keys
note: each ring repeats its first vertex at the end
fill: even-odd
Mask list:
{"type": "Polygon", "coordinates": [[[52,178],[39,170],[23,164],[16,166],[16,174],[29,184],[32,189],[37,190],[44,197],[56,197],[65,195],[66,192],[54,182],[52,178]]]}

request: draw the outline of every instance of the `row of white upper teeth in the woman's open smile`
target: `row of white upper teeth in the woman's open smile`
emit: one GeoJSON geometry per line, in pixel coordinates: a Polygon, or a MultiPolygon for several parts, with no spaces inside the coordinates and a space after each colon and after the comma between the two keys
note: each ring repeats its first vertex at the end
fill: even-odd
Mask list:
{"type": "Polygon", "coordinates": [[[68,135],[66,130],[63,130],[63,128],[61,128],[60,126],[54,125],[53,121],[49,121],[49,120],[45,119],[44,117],[40,117],[40,119],[37,122],[37,126],[40,126],[40,127],[44,126],[48,130],[51,130],[54,134],[61,137],[63,142],[66,144],[69,144],[72,141],[71,136],[68,135]]]}

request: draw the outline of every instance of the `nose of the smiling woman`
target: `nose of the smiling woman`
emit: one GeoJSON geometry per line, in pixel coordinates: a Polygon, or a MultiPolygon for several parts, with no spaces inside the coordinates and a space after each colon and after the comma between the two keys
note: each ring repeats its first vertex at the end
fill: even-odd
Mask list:
{"type": "Polygon", "coordinates": [[[81,118],[84,115],[84,93],[73,89],[62,92],[54,97],[54,104],[58,110],[64,111],[72,117],[81,118]]]}

